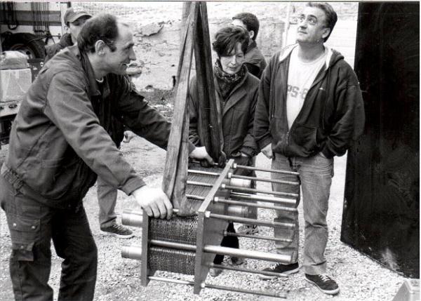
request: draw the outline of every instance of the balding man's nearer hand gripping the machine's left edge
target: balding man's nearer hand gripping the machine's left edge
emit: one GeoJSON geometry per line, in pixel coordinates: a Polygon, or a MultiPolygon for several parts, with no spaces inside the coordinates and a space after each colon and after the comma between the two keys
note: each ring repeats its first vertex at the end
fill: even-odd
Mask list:
{"type": "Polygon", "coordinates": [[[143,186],[136,189],[132,195],[136,201],[145,209],[149,217],[166,218],[169,220],[173,215],[173,205],[168,196],[159,188],[143,186]]]}

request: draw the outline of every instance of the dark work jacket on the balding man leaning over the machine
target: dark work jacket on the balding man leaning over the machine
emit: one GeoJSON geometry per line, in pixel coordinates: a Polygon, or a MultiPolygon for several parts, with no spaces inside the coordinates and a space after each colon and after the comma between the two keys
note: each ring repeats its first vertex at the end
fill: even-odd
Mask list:
{"type": "Polygon", "coordinates": [[[22,194],[56,208],[81,201],[96,174],[131,194],[145,182],[110,138],[112,116],[166,148],[171,124],[127,76],[105,76],[101,94],[86,55],[77,46],[65,48],[44,65],[22,100],[4,177],[22,194]]]}

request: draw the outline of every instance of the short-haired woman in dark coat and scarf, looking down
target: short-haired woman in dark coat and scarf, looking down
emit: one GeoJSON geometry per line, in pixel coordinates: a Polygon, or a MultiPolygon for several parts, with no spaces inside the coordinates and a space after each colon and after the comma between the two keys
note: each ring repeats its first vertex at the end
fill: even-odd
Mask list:
{"type": "MultiPolygon", "coordinates": [[[[244,65],[248,40],[248,33],[241,27],[229,26],[218,30],[213,42],[213,50],[218,55],[213,68],[213,78],[216,101],[219,102],[218,114],[222,121],[222,150],[227,159],[234,159],[239,165],[253,166],[255,155],[258,154],[258,146],[253,136],[253,121],[259,79],[250,74],[244,65]]],[[[201,119],[198,100],[197,81],[194,77],[189,89],[189,140],[196,146],[203,146],[203,128],[198,122],[201,119]]],[[[253,175],[253,172],[237,169],[236,174],[253,175]]],[[[253,215],[250,218],[257,218],[257,210],[253,215]]],[[[242,227],[247,228],[246,225],[242,227]]],[[[250,226],[250,229],[251,232],[257,232],[255,226],[250,226]]],[[[235,232],[232,223],[227,231],[235,232]]],[[[239,240],[234,236],[226,236],[221,246],[239,248],[239,240]]],[[[214,263],[220,264],[223,258],[222,255],[216,255],[214,263]]],[[[232,262],[239,264],[242,261],[232,257],[232,262]]],[[[220,272],[213,269],[210,274],[216,276],[220,272]]]]}

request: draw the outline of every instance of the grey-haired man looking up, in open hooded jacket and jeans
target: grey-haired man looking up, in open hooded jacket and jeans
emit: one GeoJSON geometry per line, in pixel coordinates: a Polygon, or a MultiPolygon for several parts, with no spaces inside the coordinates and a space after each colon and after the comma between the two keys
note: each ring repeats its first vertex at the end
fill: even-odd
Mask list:
{"type": "MultiPolygon", "coordinates": [[[[300,15],[298,44],[276,53],[260,81],[254,133],[260,149],[272,159],[272,169],[300,175],[272,173],[272,178],[300,182],[305,219],[305,279],[323,293],[336,294],[338,284],[326,275],[324,250],[328,241],[326,215],[333,176],[333,157],[342,156],[361,135],[364,123],[359,82],[343,56],[327,48],[338,19],[329,4],[309,3],[300,15]]],[[[278,192],[298,194],[299,185],[274,184],[278,192]]],[[[298,272],[298,213],[277,211],[277,221],[295,229],[275,229],[279,252],[292,255],[289,265],[265,270],[298,272]]],[[[260,275],[261,278],[271,278],[260,275]]]]}

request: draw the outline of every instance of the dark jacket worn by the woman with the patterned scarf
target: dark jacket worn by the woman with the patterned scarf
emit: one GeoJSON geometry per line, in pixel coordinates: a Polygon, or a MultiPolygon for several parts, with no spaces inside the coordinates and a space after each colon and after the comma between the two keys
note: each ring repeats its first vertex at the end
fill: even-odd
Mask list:
{"type": "MultiPolygon", "coordinates": [[[[229,93],[227,100],[222,100],[218,81],[214,75],[216,101],[220,104],[219,119],[222,123],[222,150],[227,158],[258,154],[258,147],[253,136],[253,119],[258,100],[259,79],[250,73],[229,93]]],[[[199,126],[199,95],[196,76],[190,82],[189,89],[189,140],[196,146],[203,146],[203,128],[199,126]]]]}

